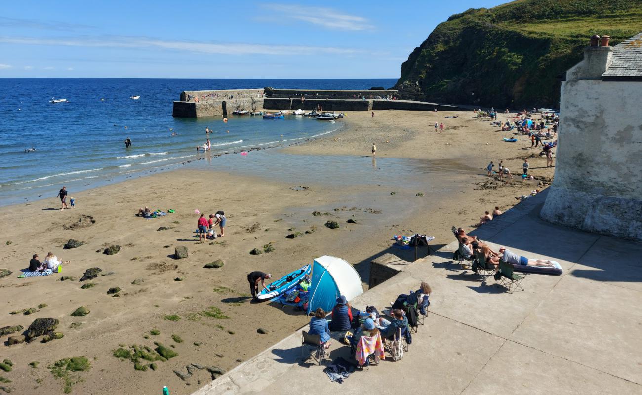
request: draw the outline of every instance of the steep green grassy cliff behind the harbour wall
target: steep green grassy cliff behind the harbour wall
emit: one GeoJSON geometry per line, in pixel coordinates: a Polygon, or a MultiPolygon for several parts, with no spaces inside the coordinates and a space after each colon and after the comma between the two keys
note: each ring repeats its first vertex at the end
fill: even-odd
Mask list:
{"type": "Polygon", "coordinates": [[[517,0],[438,24],[401,66],[403,98],[557,107],[557,76],[582,60],[593,34],[611,46],[642,31],[642,0],[517,0]]]}

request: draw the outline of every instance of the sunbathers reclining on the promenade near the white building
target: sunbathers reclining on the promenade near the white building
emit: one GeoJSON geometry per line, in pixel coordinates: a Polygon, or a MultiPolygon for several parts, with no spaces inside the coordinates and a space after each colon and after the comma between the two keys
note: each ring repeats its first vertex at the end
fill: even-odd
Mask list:
{"type": "Polygon", "coordinates": [[[464,228],[461,227],[457,229],[456,237],[461,244],[464,258],[473,259],[476,252],[482,252],[485,263],[494,266],[495,270],[499,270],[500,259],[512,265],[556,267],[552,261],[545,259],[528,259],[525,256],[518,256],[514,252],[507,250],[506,247],[499,247],[499,252],[495,252],[489,245],[479,240],[477,236],[466,234],[464,228]]]}

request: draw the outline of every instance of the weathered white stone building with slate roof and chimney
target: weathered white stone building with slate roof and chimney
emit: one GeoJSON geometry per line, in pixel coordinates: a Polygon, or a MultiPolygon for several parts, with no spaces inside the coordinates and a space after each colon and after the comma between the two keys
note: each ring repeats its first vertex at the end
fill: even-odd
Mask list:
{"type": "Polygon", "coordinates": [[[562,80],[558,132],[542,218],[642,240],[642,32],[591,38],[562,80]]]}

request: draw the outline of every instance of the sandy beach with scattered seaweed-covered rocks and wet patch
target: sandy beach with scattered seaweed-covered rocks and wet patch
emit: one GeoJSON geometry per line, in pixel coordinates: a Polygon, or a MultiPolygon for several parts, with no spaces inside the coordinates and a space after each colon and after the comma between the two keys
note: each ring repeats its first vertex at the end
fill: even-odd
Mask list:
{"type": "MultiPolygon", "coordinates": [[[[470,227],[485,210],[510,209],[517,204],[515,197],[541,188],[541,180],[550,183],[553,168],[546,168],[546,159],[537,155],[541,149],[531,149],[526,136],[517,136],[517,143],[504,143],[501,139],[508,132],[498,132],[487,118],[473,115],[377,111],[372,118],[369,112],[350,112],[336,133],[262,152],[324,155],[328,163],[334,157],[356,157],[355,163],[366,163],[374,171],[401,161],[409,174],[397,184],[395,174],[385,175],[390,184],[351,182],[349,168],[336,175],[336,182],[328,177],[320,182],[314,173],[288,179],[288,168],[279,177],[259,177],[216,166],[215,158],[211,170],[187,165],[73,191],[76,207],[63,212],[55,198],[1,207],[5,225],[0,230],[0,268],[13,274],[0,279],[0,300],[6,301],[0,306],[0,326],[26,329],[34,319],[51,317],[60,321],[56,331],[64,333],[46,344],[38,338],[13,346],[6,346],[8,336],[3,336],[3,359],[13,362],[12,371],[1,373],[12,382],[3,385],[17,394],[62,393],[63,380],[47,367],[62,358],[85,356],[92,369],[77,374],[80,380],[72,393],[155,394],[168,385],[172,394],[189,394],[209,382],[211,374],[197,369],[182,380],[174,371],[187,374],[189,364],[227,371],[308,322],[290,307],[250,303],[248,272],[262,270],[278,278],[328,254],[355,265],[367,282],[368,263],[376,256],[391,252],[412,258],[390,247],[393,234],[435,236],[432,247],[436,249],[451,241],[452,225],[470,227]],[[449,115],[458,118],[444,118],[449,115]],[[436,121],[446,126],[442,134],[434,131],[436,121]],[[370,158],[373,142],[375,159],[370,158]],[[529,173],[535,180],[519,177],[525,157],[530,158],[529,173]],[[487,164],[500,160],[512,171],[513,180],[486,176],[487,164]],[[145,206],[176,213],[149,220],[134,215],[145,206]],[[195,209],[207,215],[224,210],[225,237],[198,243],[195,209]],[[321,215],[313,215],[315,211],[321,215]],[[95,223],[70,229],[83,215],[95,223]],[[356,224],[347,224],[349,218],[356,224]],[[327,220],[335,220],[340,228],[325,227],[327,220]],[[169,229],[157,230],[160,227],[169,229]],[[285,237],[295,232],[302,235],[285,237]],[[62,249],[69,239],[85,245],[62,249]],[[249,254],[270,243],[273,252],[249,254]],[[110,245],[119,245],[120,252],[101,253],[110,245]],[[174,259],[175,247],[180,245],[187,247],[189,256],[174,259]],[[44,259],[49,251],[71,261],[62,273],[17,278],[31,254],[44,259]],[[204,268],[216,259],[222,259],[224,266],[204,268]],[[101,268],[98,277],[80,282],[83,272],[92,267],[101,268]],[[73,279],[60,281],[61,276],[73,279]],[[82,289],[86,283],[95,286],[82,289]],[[119,296],[107,294],[113,287],[121,288],[119,296]],[[37,308],[43,303],[47,306],[37,308]],[[79,306],[91,312],[72,317],[79,306]],[[37,311],[11,314],[28,308],[37,311]],[[257,333],[259,328],[266,334],[257,333]],[[153,329],[159,334],[152,335],[153,329]],[[156,371],[137,371],[133,362],[113,355],[119,347],[153,348],[154,342],[178,353],[167,362],[155,362],[156,371]],[[39,362],[38,367],[30,367],[30,362],[39,362]]],[[[499,114],[498,120],[505,121],[508,115],[499,114]]],[[[424,255],[425,250],[420,257],[424,255]]]]}

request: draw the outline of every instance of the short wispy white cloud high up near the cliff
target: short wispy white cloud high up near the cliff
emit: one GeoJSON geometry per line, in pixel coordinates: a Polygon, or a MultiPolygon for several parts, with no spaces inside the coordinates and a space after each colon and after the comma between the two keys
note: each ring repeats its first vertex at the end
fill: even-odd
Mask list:
{"type": "Polygon", "coordinates": [[[264,4],[279,14],[279,20],[295,19],[323,26],[329,30],[372,30],[374,26],[364,17],[347,15],[332,8],[306,7],[296,4],[264,4]]]}

